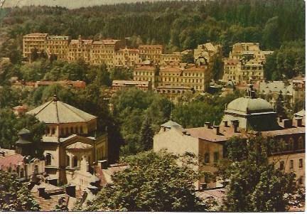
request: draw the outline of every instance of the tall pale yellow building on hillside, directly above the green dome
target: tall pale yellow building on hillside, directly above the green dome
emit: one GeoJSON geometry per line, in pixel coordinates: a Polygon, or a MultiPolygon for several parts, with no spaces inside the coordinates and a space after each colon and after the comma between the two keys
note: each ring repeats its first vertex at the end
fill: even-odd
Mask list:
{"type": "Polygon", "coordinates": [[[236,85],[242,82],[256,82],[264,79],[266,56],[273,51],[262,51],[259,43],[236,43],[232,46],[229,58],[224,60],[222,80],[233,81],[236,85]]]}

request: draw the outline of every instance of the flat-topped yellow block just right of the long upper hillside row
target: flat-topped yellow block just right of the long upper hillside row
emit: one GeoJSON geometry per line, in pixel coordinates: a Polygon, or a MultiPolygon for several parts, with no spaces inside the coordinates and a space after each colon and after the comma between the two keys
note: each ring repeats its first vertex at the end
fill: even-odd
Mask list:
{"type": "Polygon", "coordinates": [[[139,55],[142,61],[151,60],[158,63],[161,60],[163,46],[139,46],[139,55]]]}

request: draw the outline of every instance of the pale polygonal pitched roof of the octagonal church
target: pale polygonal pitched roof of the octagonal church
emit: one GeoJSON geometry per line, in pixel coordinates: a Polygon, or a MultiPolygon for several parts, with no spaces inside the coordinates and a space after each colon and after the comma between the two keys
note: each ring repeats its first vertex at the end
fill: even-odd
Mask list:
{"type": "Polygon", "coordinates": [[[94,115],[83,112],[65,102],[58,101],[56,97],[53,100],[45,102],[43,105],[32,109],[26,114],[33,114],[38,120],[47,124],[88,122],[97,118],[94,115]]]}

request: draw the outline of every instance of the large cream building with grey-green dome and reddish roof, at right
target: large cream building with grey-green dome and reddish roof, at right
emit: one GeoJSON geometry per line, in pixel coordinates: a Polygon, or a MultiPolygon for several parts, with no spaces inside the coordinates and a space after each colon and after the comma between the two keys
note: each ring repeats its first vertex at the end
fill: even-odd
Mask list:
{"type": "MultiPolygon", "coordinates": [[[[301,114],[301,113],[300,113],[301,114]]],[[[305,114],[303,114],[305,115],[305,114]]],[[[175,154],[195,154],[198,170],[217,171],[216,164],[225,157],[225,142],[237,136],[247,139],[255,134],[284,142],[282,151],[274,151],[269,161],[286,172],[296,173],[296,181],[305,181],[305,117],[279,120],[273,107],[266,100],[256,98],[254,90],[247,90],[245,97],[233,100],[225,109],[220,125],[185,129],[176,122],[161,125],[161,131],[154,136],[154,151],[168,149],[175,154]]],[[[201,178],[198,188],[215,187],[217,183],[201,178]]]]}

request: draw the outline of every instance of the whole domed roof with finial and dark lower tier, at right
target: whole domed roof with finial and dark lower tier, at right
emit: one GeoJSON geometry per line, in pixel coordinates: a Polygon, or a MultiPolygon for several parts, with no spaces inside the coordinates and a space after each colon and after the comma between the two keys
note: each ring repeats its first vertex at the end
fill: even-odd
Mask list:
{"type": "Polygon", "coordinates": [[[269,102],[256,98],[252,85],[245,97],[239,97],[230,102],[222,123],[233,124],[234,127],[245,131],[269,131],[279,129],[277,115],[269,102]]]}

